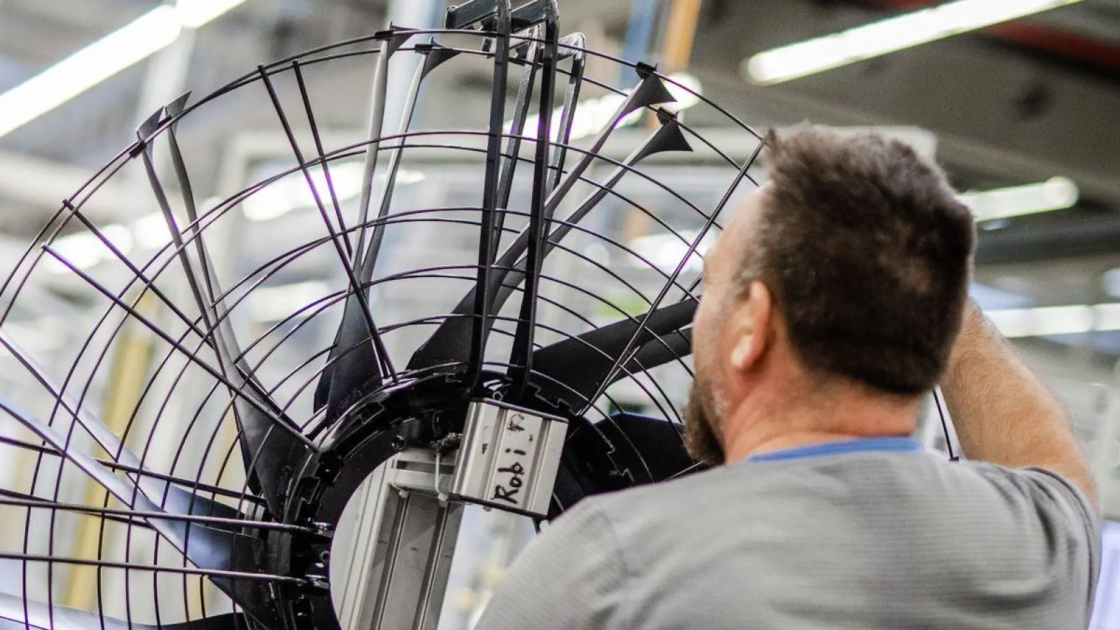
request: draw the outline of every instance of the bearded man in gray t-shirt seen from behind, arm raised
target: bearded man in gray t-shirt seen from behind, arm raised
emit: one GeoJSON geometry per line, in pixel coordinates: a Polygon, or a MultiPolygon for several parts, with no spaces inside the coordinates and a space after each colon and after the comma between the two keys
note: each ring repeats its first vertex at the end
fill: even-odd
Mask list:
{"type": "Polygon", "coordinates": [[[968,209],[899,142],[768,141],[772,179],[707,257],[693,327],[687,443],[717,465],[580,502],[478,627],[1085,628],[1093,482],[967,303],[968,209]],[[968,462],[908,437],[939,381],[968,462]]]}

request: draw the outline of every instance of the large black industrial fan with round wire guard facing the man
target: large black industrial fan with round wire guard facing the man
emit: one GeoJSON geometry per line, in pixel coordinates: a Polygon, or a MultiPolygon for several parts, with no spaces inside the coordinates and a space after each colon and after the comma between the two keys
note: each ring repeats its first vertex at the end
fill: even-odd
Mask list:
{"type": "Polygon", "coordinates": [[[557,16],[473,0],[442,29],[260,66],[161,108],[63,203],[0,285],[0,619],[339,628],[333,538],[380,470],[393,492],[367,624],[433,628],[464,503],[548,520],[698,467],[679,430],[698,261],[754,188],[762,141],[557,16]],[[402,63],[414,76],[394,95],[402,63]],[[478,126],[416,126],[426,98],[456,106],[424,86],[457,64],[489,82],[478,126]],[[344,65],[372,78],[351,138],[317,122],[317,86],[344,65]],[[193,121],[232,99],[256,99],[288,155],[204,197],[193,121]],[[710,165],[699,196],[657,176],[670,156],[710,165]],[[409,177],[424,168],[451,175],[409,177]],[[85,210],[119,182],[151,193],[123,226],[85,210]],[[416,532],[427,555],[409,555],[416,532]]]}

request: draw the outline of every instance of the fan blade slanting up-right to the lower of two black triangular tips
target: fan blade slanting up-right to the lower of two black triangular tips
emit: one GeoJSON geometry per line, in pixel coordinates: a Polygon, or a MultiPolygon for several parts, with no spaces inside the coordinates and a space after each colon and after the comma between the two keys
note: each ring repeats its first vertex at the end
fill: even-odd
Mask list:
{"type": "MultiPolygon", "coordinates": [[[[636,92],[636,91],[635,91],[636,92]]],[[[625,115],[625,114],[624,114],[625,115]]],[[[642,159],[659,154],[662,151],[675,151],[675,150],[690,150],[688,141],[684,139],[684,135],[681,133],[680,126],[673,119],[666,119],[665,123],[662,124],[655,133],[646,139],[637,149],[634,150],[624,161],[624,166],[619,166],[612,174],[607,184],[598,187],[594,193],[587,196],[579,207],[568,217],[566,224],[557,228],[545,242],[544,251],[542,252],[542,258],[547,257],[553,249],[556,249],[556,243],[559,243],[569,232],[571,232],[571,225],[579,223],[587,214],[596,206],[604,197],[607,196],[610,188],[618,183],[619,179],[628,172],[628,168],[633,168],[642,159]]],[[[567,182],[568,179],[564,179],[567,182]]],[[[562,182],[561,186],[564,185],[562,182]]],[[[551,213],[556,210],[561,197],[557,196],[560,191],[558,187],[549,195],[549,202],[545,204],[545,215],[551,217],[551,213]]],[[[510,245],[508,249],[498,259],[495,268],[492,272],[492,280],[489,282],[491,291],[491,314],[497,313],[502,309],[505,300],[508,299],[510,295],[513,294],[514,289],[521,285],[525,277],[525,261],[522,256],[529,247],[529,230],[523,230],[517,239],[510,245]]],[[[472,308],[475,304],[475,289],[472,288],[470,291],[464,296],[464,298],[456,305],[452,311],[452,317],[445,319],[436,332],[432,333],[428,341],[421,345],[412,359],[409,361],[409,369],[423,369],[431,368],[433,365],[439,365],[442,363],[460,363],[467,360],[470,353],[470,327],[473,325],[472,317],[464,317],[472,313],[472,308]]]]}

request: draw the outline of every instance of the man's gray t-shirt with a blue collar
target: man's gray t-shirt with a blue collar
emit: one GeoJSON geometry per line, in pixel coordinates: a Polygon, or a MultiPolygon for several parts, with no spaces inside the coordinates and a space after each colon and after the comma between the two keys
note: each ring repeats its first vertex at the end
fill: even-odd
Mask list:
{"type": "Polygon", "coordinates": [[[584,500],[477,628],[1084,629],[1099,527],[1043,470],[899,438],[791,450],[584,500]]]}

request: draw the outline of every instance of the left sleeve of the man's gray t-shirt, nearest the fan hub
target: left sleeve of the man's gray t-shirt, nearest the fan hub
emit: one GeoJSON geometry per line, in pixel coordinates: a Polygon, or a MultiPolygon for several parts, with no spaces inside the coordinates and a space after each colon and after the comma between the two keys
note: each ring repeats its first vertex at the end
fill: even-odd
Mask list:
{"type": "Polygon", "coordinates": [[[513,563],[477,630],[618,628],[625,566],[595,499],[553,520],[513,563]]]}

